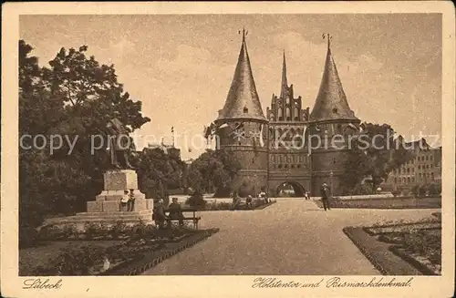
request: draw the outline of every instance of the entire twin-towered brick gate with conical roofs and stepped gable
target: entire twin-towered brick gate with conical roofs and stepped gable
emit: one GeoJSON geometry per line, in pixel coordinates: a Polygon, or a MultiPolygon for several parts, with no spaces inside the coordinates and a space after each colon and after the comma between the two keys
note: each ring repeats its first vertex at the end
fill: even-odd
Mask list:
{"type": "Polygon", "coordinates": [[[304,196],[305,190],[318,196],[321,184],[331,181],[332,193],[339,193],[348,149],[340,146],[340,138],[337,147],[330,140],[357,133],[360,121],[348,106],[331,54],[330,36],[324,36],[326,62],[312,112],[303,98],[295,96],[293,85],[288,85],[284,53],[280,94],[273,94],[264,117],[243,30],[228,97],[206,132],[206,136],[216,134],[218,148],[233,151],[241,163],[233,189],[246,184],[255,190],[265,188],[272,195],[286,182],[297,196],[304,196]]]}

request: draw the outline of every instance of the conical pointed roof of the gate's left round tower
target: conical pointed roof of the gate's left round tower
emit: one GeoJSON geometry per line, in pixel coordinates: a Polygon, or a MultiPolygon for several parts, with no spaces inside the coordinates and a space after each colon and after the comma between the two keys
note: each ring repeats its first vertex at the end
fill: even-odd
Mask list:
{"type": "Polygon", "coordinates": [[[263,109],[256,92],[254,75],[250,66],[250,59],[245,43],[245,30],[243,30],[243,44],[234,71],[231,84],[223,109],[219,111],[217,120],[250,118],[264,120],[263,109]]]}

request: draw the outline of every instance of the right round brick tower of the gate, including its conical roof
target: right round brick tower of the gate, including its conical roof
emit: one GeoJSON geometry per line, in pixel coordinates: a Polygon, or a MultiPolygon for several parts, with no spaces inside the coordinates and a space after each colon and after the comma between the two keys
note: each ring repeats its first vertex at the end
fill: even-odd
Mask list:
{"type": "Polygon", "coordinates": [[[320,195],[326,182],[333,195],[341,193],[340,179],[348,153],[348,136],[359,130],[360,120],[348,106],[347,97],[331,54],[331,37],[327,39],[326,63],[315,106],[309,116],[312,136],[312,195],[320,195]]]}

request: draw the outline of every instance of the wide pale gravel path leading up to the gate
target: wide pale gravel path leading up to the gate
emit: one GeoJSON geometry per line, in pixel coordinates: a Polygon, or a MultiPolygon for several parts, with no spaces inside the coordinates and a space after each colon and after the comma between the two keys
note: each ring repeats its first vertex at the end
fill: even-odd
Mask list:
{"type": "Polygon", "coordinates": [[[260,211],[205,211],[201,228],[220,231],[144,274],[378,275],[342,229],[434,211],[323,211],[302,199],[277,200],[260,211]]]}

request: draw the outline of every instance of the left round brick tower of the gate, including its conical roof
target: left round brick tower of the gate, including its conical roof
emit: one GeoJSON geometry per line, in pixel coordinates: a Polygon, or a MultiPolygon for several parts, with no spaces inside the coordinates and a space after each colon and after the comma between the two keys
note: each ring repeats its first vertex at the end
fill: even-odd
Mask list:
{"type": "MultiPolygon", "coordinates": [[[[245,43],[245,31],[233,82],[223,109],[214,121],[219,149],[231,150],[241,163],[233,190],[243,184],[258,193],[267,190],[267,120],[256,92],[245,43]]],[[[254,193],[253,193],[254,194],[254,193]]]]}

